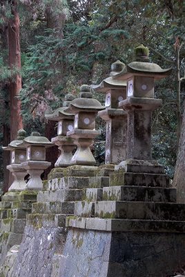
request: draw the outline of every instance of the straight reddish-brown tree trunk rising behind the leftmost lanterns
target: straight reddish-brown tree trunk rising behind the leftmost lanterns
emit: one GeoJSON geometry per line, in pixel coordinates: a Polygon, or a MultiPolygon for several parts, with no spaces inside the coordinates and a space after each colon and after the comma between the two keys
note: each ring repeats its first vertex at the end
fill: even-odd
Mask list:
{"type": "MultiPolygon", "coordinates": [[[[17,12],[17,1],[11,3],[12,18],[8,22],[8,51],[9,66],[21,69],[21,51],[19,39],[19,14],[17,12]]],[[[21,75],[15,73],[10,82],[10,140],[13,141],[17,137],[17,131],[23,128],[21,117],[21,102],[17,98],[21,90],[21,75]]]]}

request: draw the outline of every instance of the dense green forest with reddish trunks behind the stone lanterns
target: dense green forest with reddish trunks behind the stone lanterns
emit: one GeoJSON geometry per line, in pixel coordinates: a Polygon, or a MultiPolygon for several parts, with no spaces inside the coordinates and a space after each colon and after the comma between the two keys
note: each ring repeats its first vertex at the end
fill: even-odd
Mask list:
{"type": "MultiPolygon", "coordinates": [[[[173,67],[171,76],[155,85],[164,105],[153,115],[153,158],[173,177],[185,98],[184,1],[1,0],[0,15],[1,145],[15,139],[19,127],[55,136],[44,113],[61,107],[66,93],[77,96],[81,84],[108,77],[116,60],[133,61],[133,48],[144,44],[152,62],[173,67]]],[[[95,98],[104,102],[104,93],[95,98]]],[[[104,125],[98,120],[99,162],[104,125]]],[[[0,151],[3,182],[9,157],[0,151]]]]}

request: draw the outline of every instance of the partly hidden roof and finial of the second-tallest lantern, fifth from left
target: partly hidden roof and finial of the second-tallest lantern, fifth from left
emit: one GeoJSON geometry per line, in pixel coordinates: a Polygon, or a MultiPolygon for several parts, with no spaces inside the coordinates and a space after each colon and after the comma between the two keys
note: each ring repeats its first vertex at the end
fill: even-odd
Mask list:
{"type": "Polygon", "coordinates": [[[126,81],[123,80],[115,80],[113,76],[120,73],[125,67],[125,64],[123,62],[120,62],[117,60],[117,62],[114,62],[111,65],[111,72],[110,77],[104,79],[100,84],[92,84],[91,87],[94,89],[94,91],[100,91],[100,92],[106,92],[109,89],[123,89],[123,87],[126,87],[126,81]]]}

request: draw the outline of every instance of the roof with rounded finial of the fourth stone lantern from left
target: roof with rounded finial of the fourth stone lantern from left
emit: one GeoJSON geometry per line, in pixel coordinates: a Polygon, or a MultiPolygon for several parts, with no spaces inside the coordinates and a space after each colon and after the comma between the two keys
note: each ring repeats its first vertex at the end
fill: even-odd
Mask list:
{"type": "Polygon", "coordinates": [[[80,98],[76,98],[70,102],[68,111],[77,114],[79,111],[97,112],[105,109],[101,103],[93,98],[90,92],[90,86],[84,84],[80,87],[80,98]]]}

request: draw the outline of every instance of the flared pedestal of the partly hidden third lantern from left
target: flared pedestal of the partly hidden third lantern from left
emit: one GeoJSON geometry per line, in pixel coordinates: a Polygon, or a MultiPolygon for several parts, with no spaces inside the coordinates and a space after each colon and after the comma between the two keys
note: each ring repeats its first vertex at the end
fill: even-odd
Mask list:
{"type": "Polygon", "coordinates": [[[66,168],[67,166],[71,166],[72,151],[76,148],[73,139],[68,136],[56,136],[52,138],[51,141],[61,150],[61,154],[55,163],[55,168],[66,168]]]}

